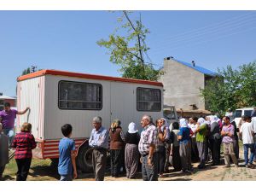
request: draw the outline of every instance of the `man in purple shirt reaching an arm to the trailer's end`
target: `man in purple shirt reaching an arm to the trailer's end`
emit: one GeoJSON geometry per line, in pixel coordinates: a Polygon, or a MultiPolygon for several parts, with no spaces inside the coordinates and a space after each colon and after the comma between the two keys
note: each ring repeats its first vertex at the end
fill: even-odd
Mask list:
{"type": "Polygon", "coordinates": [[[10,103],[4,103],[4,109],[0,112],[0,122],[3,124],[3,133],[9,137],[9,146],[13,142],[15,137],[15,118],[17,114],[25,114],[30,108],[26,108],[24,111],[17,111],[10,108],[10,103]]]}

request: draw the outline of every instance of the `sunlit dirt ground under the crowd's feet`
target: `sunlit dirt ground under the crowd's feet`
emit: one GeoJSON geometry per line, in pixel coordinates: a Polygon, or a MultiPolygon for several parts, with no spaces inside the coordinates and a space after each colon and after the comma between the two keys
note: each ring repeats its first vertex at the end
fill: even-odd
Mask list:
{"type": "MultiPolygon", "coordinates": [[[[240,157],[243,157],[242,151],[240,157]]],[[[170,167],[170,172],[164,174],[164,177],[159,178],[160,181],[254,181],[256,180],[256,169],[250,169],[243,166],[243,158],[239,161],[239,167],[234,165],[230,168],[224,168],[224,159],[222,154],[221,166],[207,165],[206,169],[198,170],[197,163],[194,163],[194,171],[189,173],[173,172],[173,168],[170,167]]],[[[6,166],[5,172],[3,172],[3,180],[12,181],[15,180],[16,170],[15,160],[11,160],[9,165],[6,166]]],[[[123,177],[113,178],[106,174],[106,181],[141,181],[142,174],[137,173],[137,179],[127,179],[125,175],[123,177]]],[[[28,181],[57,181],[59,175],[57,170],[50,166],[50,160],[32,160],[32,166],[30,169],[28,181]]],[[[93,181],[92,174],[85,174],[79,172],[79,178],[77,181],[93,181]]]]}

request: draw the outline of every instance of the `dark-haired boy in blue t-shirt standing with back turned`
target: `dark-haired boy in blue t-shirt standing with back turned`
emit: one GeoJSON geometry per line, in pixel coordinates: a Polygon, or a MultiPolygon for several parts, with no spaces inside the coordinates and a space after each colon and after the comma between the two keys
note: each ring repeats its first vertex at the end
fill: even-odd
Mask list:
{"type": "Polygon", "coordinates": [[[64,138],[59,143],[59,165],[58,172],[61,175],[61,181],[72,181],[73,178],[78,177],[76,166],[76,150],[72,135],[72,125],[65,124],[61,127],[64,138]]]}

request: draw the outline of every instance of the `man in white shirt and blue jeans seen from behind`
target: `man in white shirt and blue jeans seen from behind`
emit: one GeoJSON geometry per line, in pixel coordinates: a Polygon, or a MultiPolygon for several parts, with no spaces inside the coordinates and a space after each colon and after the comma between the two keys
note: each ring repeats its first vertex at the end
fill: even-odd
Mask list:
{"type": "Polygon", "coordinates": [[[245,120],[245,123],[241,125],[239,133],[241,135],[242,143],[243,143],[245,166],[247,168],[251,168],[253,167],[253,158],[255,153],[253,137],[256,133],[256,130],[255,129],[253,130],[253,125],[251,123],[250,117],[245,116],[244,120],[245,120]],[[249,148],[251,151],[250,160],[248,160],[249,148]]]}

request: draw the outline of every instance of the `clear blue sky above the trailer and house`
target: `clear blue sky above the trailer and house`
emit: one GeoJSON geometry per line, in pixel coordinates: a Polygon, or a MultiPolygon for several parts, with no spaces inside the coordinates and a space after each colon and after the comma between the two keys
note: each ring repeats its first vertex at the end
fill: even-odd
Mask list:
{"type": "MultiPolygon", "coordinates": [[[[0,11],[0,92],[15,96],[16,78],[26,67],[121,76],[107,49],[120,12],[0,11]]],[[[256,60],[256,11],[134,11],[150,33],[148,56],[155,67],[164,58],[212,71],[256,60]]]]}

